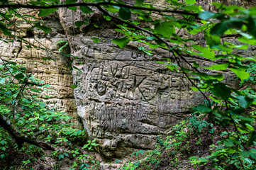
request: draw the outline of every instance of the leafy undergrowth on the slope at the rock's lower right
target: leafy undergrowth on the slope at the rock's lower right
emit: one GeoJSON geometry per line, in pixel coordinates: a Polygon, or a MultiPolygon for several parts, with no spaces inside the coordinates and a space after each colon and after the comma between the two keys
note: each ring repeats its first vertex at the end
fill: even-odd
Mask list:
{"type": "MultiPolygon", "coordinates": [[[[250,77],[255,70],[247,70],[250,77]]],[[[252,84],[253,79],[248,78],[240,83],[247,86],[243,91],[232,89],[225,100],[211,96],[211,108],[206,103],[191,109],[191,116],[175,125],[172,135],[157,137],[156,149],[147,153],[139,169],[256,169],[256,116],[255,106],[250,106],[256,96],[252,84]]],[[[224,91],[229,89],[223,87],[224,91]]],[[[225,98],[224,91],[214,93],[225,98]]]]}

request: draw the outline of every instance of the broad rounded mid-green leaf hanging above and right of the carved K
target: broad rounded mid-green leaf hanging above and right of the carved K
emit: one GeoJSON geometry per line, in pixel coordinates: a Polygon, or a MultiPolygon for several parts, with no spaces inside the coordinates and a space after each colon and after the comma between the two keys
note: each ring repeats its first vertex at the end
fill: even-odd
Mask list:
{"type": "Polygon", "coordinates": [[[172,26],[171,22],[162,22],[155,25],[155,33],[160,34],[166,38],[169,38],[173,33],[175,33],[175,28],[172,26]]]}

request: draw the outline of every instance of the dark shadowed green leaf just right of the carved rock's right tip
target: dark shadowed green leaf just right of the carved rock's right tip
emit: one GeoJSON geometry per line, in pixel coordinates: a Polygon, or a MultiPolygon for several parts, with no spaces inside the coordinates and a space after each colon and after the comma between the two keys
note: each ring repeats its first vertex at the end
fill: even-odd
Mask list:
{"type": "Polygon", "coordinates": [[[211,93],[223,100],[227,100],[231,96],[231,89],[223,83],[218,83],[214,84],[213,89],[211,89],[211,93]]]}

